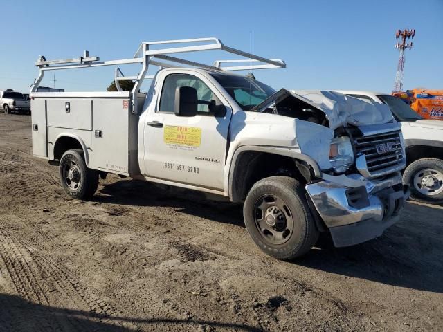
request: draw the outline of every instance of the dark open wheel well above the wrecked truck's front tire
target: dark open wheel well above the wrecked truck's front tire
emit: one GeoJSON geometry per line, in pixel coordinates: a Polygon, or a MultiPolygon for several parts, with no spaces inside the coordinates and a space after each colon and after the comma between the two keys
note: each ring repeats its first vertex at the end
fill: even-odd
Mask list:
{"type": "Polygon", "coordinates": [[[301,183],[307,183],[311,179],[311,170],[302,160],[260,151],[245,151],[238,156],[233,169],[230,184],[232,200],[244,201],[254,183],[275,175],[290,176],[301,183]]]}

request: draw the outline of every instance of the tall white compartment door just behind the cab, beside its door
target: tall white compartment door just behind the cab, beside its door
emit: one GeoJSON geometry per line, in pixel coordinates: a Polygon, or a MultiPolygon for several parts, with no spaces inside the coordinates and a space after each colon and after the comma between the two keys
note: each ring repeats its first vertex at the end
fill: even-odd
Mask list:
{"type": "Polygon", "coordinates": [[[90,167],[128,174],[128,122],[130,114],[128,98],[93,99],[92,151],[89,151],[90,167]]]}

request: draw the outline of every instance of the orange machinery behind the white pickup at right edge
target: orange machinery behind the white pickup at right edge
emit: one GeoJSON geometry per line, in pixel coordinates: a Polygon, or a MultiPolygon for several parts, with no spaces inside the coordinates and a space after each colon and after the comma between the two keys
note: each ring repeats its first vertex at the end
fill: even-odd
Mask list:
{"type": "Polygon", "coordinates": [[[443,120],[443,90],[413,89],[393,92],[425,119],[443,120]]]}

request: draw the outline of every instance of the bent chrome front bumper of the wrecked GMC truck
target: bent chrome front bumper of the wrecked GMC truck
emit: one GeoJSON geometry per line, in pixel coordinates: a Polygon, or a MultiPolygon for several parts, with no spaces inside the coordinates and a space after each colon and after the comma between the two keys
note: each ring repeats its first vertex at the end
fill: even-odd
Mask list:
{"type": "Polygon", "coordinates": [[[395,173],[381,181],[327,176],[306,186],[336,247],[353,246],[383,234],[398,221],[409,188],[395,173]]]}

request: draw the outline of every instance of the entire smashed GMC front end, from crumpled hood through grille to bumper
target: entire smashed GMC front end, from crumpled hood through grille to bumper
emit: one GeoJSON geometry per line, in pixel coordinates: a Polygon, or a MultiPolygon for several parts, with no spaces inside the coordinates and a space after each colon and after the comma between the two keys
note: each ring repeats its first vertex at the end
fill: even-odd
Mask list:
{"type": "Polygon", "coordinates": [[[399,219],[408,187],[403,137],[390,109],[333,91],[282,89],[255,111],[295,118],[296,144],[322,176],[307,183],[313,213],[336,246],[378,237],[399,219]]]}

